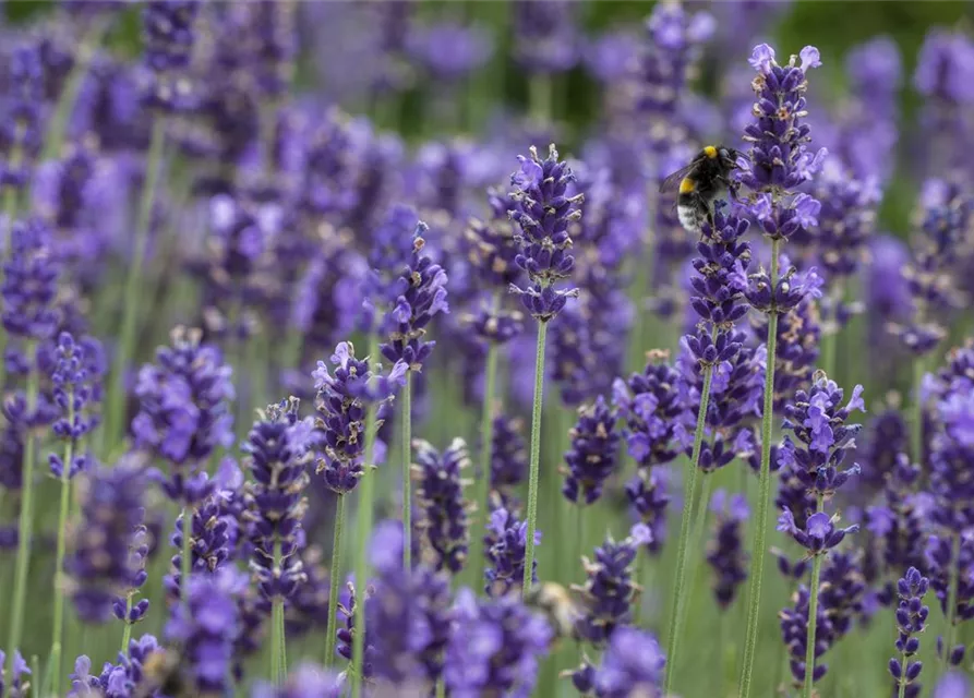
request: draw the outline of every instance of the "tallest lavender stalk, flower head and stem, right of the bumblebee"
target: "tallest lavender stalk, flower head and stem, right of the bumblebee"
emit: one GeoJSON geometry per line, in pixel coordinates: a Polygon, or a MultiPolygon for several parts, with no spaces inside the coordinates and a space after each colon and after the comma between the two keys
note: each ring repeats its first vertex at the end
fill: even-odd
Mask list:
{"type": "Polygon", "coordinates": [[[821,205],[795,189],[811,179],[823,159],[825,149],[811,154],[805,93],[806,72],[821,64],[818,49],[806,46],[798,57],[785,65],[774,60],[774,49],[767,44],[756,46],[749,63],[757,71],[751,86],[755,92],[755,120],[744,132],[751,144],[748,157],[738,160],[742,184],[753,193],[746,202],[748,213],[760,224],[771,240],[771,265],[768,274],[750,279],[747,299],[768,315],[767,369],[761,413],[761,460],[758,515],[754,527],[754,559],[744,642],[744,665],[741,674],[743,698],[750,695],[751,673],[757,653],[758,623],[761,610],[761,582],[765,570],[765,541],[771,501],[771,435],[774,420],[774,361],[778,339],[778,316],[794,308],[802,299],[790,284],[790,274],[779,278],[781,245],[791,236],[817,225],[821,205]],[[796,298],[797,297],[797,298],[796,298]]]}

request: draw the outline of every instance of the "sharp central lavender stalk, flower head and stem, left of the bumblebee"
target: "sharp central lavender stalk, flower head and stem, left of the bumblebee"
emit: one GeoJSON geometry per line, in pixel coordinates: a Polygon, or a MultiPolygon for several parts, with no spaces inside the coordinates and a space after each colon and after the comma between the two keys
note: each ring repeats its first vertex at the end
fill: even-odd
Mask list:
{"type": "Polygon", "coordinates": [[[569,250],[572,238],[568,225],[581,218],[579,208],[584,196],[566,196],[574,176],[566,163],[558,160],[552,144],[542,160],[533,146],[529,157],[518,156],[521,167],[512,178],[513,198],[518,209],[510,213],[520,228],[515,239],[520,252],[515,263],[522,268],[530,286],[521,289],[512,285],[510,291],[520,297],[524,306],[538,321],[538,344],[534,354],[534,397],[531,407],[531,459],[528,476],[528,530],[525,552],[524,591],[531,587],[534,563],[534,530],[538,524],[538,481],[541,465],[541,405],[544,393],[544,339],[548,323],[564,308],[577,289],[556,288],[567,279],[575,266],[569,250]]]}

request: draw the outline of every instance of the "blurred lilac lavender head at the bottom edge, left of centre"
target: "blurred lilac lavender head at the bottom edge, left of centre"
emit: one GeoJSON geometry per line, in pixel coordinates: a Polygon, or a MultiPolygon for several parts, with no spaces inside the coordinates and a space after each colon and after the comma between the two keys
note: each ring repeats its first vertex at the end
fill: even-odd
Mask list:
{"type": "Polygon", "coordinates": [[[236,598],[245,586],[236,569],[193,575],[188,603],[172,606],[166,639],[181,646],[180,671],[200,695],[230,689],[233,641],[240,633],[236,598]]]}

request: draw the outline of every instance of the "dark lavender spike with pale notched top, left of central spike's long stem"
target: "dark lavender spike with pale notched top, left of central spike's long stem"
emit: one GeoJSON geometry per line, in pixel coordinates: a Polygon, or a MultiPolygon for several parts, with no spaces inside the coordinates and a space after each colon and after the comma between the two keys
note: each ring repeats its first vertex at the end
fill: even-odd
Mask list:
{"type": "Polygon", "coordinates": [[[430,564],[450,574],[462,569],[467,561],[470,538],[467,503],[464,501],[462,470],[470,465],[467,444],[455,438],[442,453],[424,441],[413,443],[416,464],[412,472],[418,480],[416,496],[420,506],[420,521],[429,546],[430,564]]]}

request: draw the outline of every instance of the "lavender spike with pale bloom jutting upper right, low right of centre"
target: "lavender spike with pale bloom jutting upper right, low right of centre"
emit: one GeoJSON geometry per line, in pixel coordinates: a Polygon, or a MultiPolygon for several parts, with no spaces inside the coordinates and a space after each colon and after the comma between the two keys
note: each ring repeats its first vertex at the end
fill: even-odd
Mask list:
{"type": "Polygon", "coordinates": [[[635,538],[615,542],[610,535],[596,549],[594,559],[582,558],[586,581],[577,588],[581,609],[575,628],[581,639],[597,648],[603,648],[617,627],[632,621],[639,591],[633,579],[639,542],[635,538]]]}

